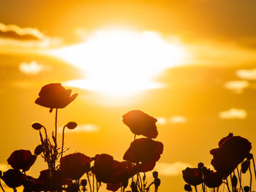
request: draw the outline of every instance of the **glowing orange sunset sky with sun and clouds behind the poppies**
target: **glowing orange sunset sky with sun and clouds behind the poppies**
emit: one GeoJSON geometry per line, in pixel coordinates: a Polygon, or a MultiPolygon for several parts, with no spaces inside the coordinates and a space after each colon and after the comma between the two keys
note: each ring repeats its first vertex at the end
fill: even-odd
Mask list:
{"type": "MultiPolygon", "coordinates": [[[[59,111],[60,130],[78,123],[67,153],[121,161],[133,137],[121,116],[157,118],[159,191],[183,191],[181,170],[210,166],[209,151],[230,132],[255,153],[255,8],[254,0],[0,1],[0,169],[13,150],[39,144],[31,123],[53,130],[54,115],[34,104],[50,82],[78,93],[59,111]]],[[[45,168],[40,159],[29,174],[45,168]]]]}

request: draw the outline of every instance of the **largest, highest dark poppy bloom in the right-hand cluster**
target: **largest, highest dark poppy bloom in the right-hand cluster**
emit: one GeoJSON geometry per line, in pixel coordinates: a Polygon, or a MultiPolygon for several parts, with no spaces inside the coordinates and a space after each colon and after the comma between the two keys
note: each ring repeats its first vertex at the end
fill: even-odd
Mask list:
{"type": "Polygon", "coordinates": [[[251,142],[247,139],[239,136],[233,137],[233,135],[229,135],[220,146],[210,151],[211,155],[214,155],[211,164],[225,177],[244,161],[252,149],[251,142]]]}

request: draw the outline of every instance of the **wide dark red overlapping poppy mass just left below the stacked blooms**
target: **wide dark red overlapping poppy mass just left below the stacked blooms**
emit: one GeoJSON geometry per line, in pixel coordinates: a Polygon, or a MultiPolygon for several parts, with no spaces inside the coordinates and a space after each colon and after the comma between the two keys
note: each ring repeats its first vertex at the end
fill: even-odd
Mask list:
{"type": "Polygon", "coordinates": [[[123,183],[137,173],[137,167],[127,161],[116,161],[108,154],[95,155],[94,172],[97,181],[103,183],[123,183]]]}

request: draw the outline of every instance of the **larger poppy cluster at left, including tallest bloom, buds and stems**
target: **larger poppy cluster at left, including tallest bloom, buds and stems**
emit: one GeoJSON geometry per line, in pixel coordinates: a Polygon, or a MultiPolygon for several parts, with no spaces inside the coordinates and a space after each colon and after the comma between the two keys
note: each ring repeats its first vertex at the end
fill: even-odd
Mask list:
{"type": "Polygon", "coordinates": [[[125,161],[116,161],[112,155],[108,154],[97,154],[94,157],[83,153],[64,155],[68,150],[64,148],[64,130],[65,128],[75,129],[78,124],[69,122],[63,127],[61,147],[59,147],[57,142],[58,110],[67,107],[78,96],[77,93],[71,95],[71,92],[62,87],[61,83],[45,85],[39,91],[39,97],[35,103],[50,108],[50,112],[53,109],[56,110],[55,129],[52,134],[48,135],[47,128],[42,123],[32,123],[32,128],[39,131],[41,144],[34,149],[34,155],[29,150],[15,150],[10,155],[7,162],[13,169],[3,173],[0,171],[2,191],[4,188],[2,188],[1,180],[14,191],[23,185],[24,192],[78,192],[80,187],[83,192],[94,192],[99,191],[102,183],[107,185],[109,191],[117,191],[120,188],[121,192],[124,192],[130,186],[132,192],[148,192],[154,185],[154,191],[157,192],[161,183],[158,172],[153,172],[154,181],[149,185],[145,173],[154,169],[163,151],[162,142],[152,139],[158,135],[155,124],[157,119],[139,110],[128,112],[123,116],[124,123],[135,134],[134,141],[124,154],[125,161]],[[136,139],[136,134],[148,138],[136,139]],[[37,155],[42,156],[48,164],[48,169],[42,170],[39,177],[34,178],[26,175],[26,171],[33,166],[37,155]],[[91,162],[94,162],[93,166],[91,162]],[[140,175],[142,172],[143,177],[140,175]],[[84,174],[87,180],[80,180],[84,174]]]}

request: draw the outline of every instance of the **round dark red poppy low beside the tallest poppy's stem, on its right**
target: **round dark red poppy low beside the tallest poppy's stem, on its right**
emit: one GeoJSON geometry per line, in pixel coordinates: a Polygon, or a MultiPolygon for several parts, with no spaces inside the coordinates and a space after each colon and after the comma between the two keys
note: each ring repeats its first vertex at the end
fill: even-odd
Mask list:
{"type": "Polygon", "coordinates": [[[86,172],[90,171],[91,158],[83,153],[72,153],[61,158],[61,171],[67,178],[78,180],[86,172]]]}

